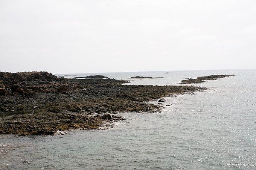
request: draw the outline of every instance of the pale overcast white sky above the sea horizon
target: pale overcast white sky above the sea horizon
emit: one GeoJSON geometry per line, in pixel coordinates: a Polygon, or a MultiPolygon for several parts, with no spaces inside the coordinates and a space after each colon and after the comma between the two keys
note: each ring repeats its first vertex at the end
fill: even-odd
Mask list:
{"type": "Polygon", "coordinates": [[[255,0],[1,0],[0,71],[256,68],[255,0]]]}

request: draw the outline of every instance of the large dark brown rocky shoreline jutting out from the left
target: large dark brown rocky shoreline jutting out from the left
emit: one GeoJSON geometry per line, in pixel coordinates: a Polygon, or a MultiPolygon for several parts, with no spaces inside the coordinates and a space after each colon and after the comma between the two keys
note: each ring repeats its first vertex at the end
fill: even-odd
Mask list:
{"type": "MultiPolygon", "coordinates": [[[[97,75],[98,77],[98,75],[97,75]]],[[[110,78],[58,78],[47,72],[0,72],[0,134],[53,135],[101,129],[124,120],[119,112],[158,112],[146,103],[206,90],[196,86],[135,86],[110,78]]]]}

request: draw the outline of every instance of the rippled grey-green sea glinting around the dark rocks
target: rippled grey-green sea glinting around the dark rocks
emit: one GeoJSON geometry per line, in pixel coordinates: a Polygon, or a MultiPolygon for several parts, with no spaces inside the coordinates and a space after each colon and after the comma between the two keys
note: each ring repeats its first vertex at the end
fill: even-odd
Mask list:
{"type": "MultiPolygon", "coordinates": [[[[236,76],[192,84],[208,90],[166,97],[160,113],[119,113],[126,120],[106,130],[0,135],[0,169],[256,169],[256,69],[57,76],[97,74],[128,80],[127,85],[157,86],[181,85],[184,78],[215,74],[236,76]],[[163,78],[129,79],[133,76],[163,78]]],[[[152,103],[158,104],[157,99],[152,103]]]]}

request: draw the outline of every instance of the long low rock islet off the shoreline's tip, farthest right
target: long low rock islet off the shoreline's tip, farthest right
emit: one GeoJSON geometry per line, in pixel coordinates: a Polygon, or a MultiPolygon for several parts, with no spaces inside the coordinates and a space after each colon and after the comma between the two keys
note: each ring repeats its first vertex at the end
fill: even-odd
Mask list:
{"type": "Polygon", "coordinates": [[[231,74],[231,75],[220,74],[220,75],[209,75],[209,76],[204,76],[204,77],[197,77],[195,79],[186,78],[187,80],[182,80],[180,84],[199,84],[199,83],[203,83],[207,80],[218,80],[219,78],[230,77],[230,76],[236,76],[236,75],[235,74],[231,74]]]}

